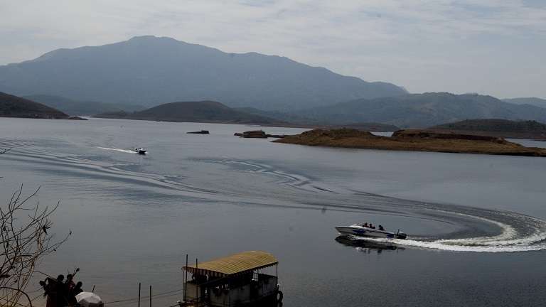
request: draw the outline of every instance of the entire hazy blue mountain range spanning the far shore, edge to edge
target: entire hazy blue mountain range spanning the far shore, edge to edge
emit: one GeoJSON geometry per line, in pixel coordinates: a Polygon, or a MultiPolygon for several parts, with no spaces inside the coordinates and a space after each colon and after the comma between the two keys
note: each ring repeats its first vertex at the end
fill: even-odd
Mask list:
{"type": "Polygon", "coordinates": [[[390,83],[365,82],[289,58],[224,53],[155,36],[58,49],[34,60],[0,66],[0,90],[68,114],[135,119],[157,115],[139,113],[146,107],[191,102],[186,105],[188,113],[178,112],[173,120],[400,127],[491,118],[546,122],[545,99],[409,94],[390,83]],[[197,104],[209,108],[210,119],[207,113],[199,113],[197,104]],[[228,114],[225,108],[229,119],[217,118],[228,114]],[[188,115],[192,112],[196,118],[188,115]]]}

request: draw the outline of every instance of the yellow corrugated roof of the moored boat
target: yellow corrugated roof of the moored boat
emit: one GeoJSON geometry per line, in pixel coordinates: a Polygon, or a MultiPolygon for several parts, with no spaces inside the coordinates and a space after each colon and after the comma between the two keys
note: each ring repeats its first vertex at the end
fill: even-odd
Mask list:
{"type": "Polygon", "coordinates": [[[228,257],[201,262],[197,265],[184,266],[183,269],[195,273],[196,271],[214,272],[221,275],[232,275],[243,271],[250,271],[277,264],[277,258],[268,252],[248,251],[233,254],[228,257]]]}

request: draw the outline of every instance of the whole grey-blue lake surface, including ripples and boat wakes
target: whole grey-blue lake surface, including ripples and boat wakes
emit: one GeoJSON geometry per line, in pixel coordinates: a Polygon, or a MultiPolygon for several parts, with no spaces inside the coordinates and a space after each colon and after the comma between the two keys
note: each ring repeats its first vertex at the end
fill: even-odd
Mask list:
{"type": "Polygon", "coordinates": [[[78,266],[107,302],[137,296],[139,282],[181,289],[186,254],[252,249],[279,258],[284,306],[546,301],[545,158],[273,144],[228,124],[1,118],[0,129],[12,148],[0,156],[4,200],[41,185],[41,204],[61,200],[53,232],[73,232],[41,269],[78,266]],[[211,134],[186,134],[200,129],[211,134]],[[410,239],[392,247],[333,229],[365,221],[410,239]]]}

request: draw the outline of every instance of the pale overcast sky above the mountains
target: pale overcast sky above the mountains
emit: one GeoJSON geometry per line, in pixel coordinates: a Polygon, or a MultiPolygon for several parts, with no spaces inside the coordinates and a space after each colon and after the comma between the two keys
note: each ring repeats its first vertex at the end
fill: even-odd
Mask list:
{"type": "Polygon", "coordinates": [[[410,92],[546,98],[546,0],[0,0],[0,65],[142,35],[410,92]]]}

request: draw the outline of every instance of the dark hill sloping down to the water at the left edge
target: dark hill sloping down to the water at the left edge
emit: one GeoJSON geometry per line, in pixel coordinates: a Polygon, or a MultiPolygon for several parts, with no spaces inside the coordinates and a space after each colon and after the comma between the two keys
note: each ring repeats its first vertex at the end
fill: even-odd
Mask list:
{"type": "Polygon", "coordinates": [[[58,109],[4,92],[0,92],[0,117],[71,119],[68,114],[58,109]]]}

